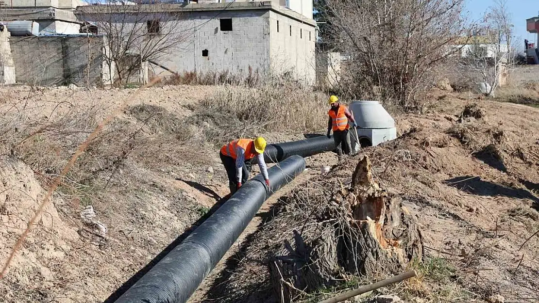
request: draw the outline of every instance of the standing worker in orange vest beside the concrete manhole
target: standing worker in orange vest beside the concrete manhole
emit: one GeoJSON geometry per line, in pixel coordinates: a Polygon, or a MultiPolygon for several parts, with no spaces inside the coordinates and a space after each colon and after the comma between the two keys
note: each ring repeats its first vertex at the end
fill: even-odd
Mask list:
{"type": "Polygon", "coordinates": [[[328,111],[329,120],[328,120],[328,138],[331,130],[333,130],[333,139],[335,140],[335,147],[337,149],[337,155],[342,156],[342,152],[349,154],[352,150],[350,144],[350,133],[348,120],[352,122],[353,127],[357,127],[356,121],[348,108],[344,104],[337,102],[337,96],[330,96],[328,103],[331,105],[331,108],[328,111]],[[342,148],[341,148],[342,145],[342,148]]]}

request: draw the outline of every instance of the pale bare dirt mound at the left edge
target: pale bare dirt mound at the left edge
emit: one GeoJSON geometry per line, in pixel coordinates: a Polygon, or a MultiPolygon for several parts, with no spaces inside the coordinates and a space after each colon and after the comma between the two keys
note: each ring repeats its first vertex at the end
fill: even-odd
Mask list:
{"type": "MultiPolygon", "coordinates": [[[[15,158],[0,157],[0,259],[8,258],[44,196],[30,167],[15,158]]],[[[78,238],[77,232],[60,219],[54,203],[47,201],[36,226],[13,258],[6,280],[0,284],[0,297],[7,302],[22,302],[33,293],[42,295],[31,296],[34,302],[47,299],[42,291],[54,287],[54,281],[63,276],[58,265],[65,262],[78,238]]]]}

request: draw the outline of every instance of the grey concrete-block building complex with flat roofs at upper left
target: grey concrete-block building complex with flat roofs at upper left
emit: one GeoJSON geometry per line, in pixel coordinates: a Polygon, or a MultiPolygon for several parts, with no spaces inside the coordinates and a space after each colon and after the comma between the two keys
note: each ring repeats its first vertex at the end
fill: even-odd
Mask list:
{"type": "MultiPolygon", "coordinates": [[[[8,30],[17,29],[11,34],[10,43],[16,43],[16,53],[13,59],[15,66],[24,64],[37,64],[30,58],[33,46],[47,50],[47,55],[40,56],[40,70],[47,70],[46,66],[52,62],[60,62],[61,58],[67,58],[63,67],[64,76],[57,74],[47,76],[42,83],[68,83],[71,79],[82,79],[72,76],[76,70],[80,74],[80,66],[89,63],[98,68],[102,65],[102,56],[96,54],[93,41],[102,45],[101,51],[111,51],[107,46],[108,39],[103,36],[96,20],[111,14],[110,5],[121,5],[124,16],[122,22],[126,22],[132,16],[129,15],[131,7],[146,5],[154,9],[158,3],[172,3],[167,9],[174,11],[176,19],[168,19],[167,23],[174,26],[186,37],[174,50],[167,50],[159,55],[158,59],[141,62],[141,71],[133,79],[134,82],[147,82],[152,75],[167,76],[172,73],[183,74],[196,72],[199,75],[205,73],[230,73],[232,75],[247,75],[255,73],[259,77],[266,75],[279,76],[286,74],[293,79],[305,84],[312,85],[315,82],[315,40],[316,23],[313,20],[312,0],[271,0],[253,2],[246,0],[142,0],[148,4],[134,4],[121,0],[95,0],[92,4],[81,0],[10,0],[9,5],[0,6],[0,22],[4,22],[8,30]],[[108,8],[107,8],[108,6],[108,8]],[[12,24],[12,21],[23,21],[12,24]],[[34,24],[38,30],[34,31],[34,24]],[[31,30],[20,27],[30,26],[31,30]],[[20,31],[19,31],[20,30],[20,31]],[[13,36],[37,36],[36,39],[21,40],[13,36]],[[43,39],[43,36],[51,36],[51,39],[43,39]],[[63,36],[64,38],[54,38],[63,36]],[[95,36],[99,39],[82,39],[82,37],[95,36]],[[92,41],[92,42],[91,42],[92,41]],[[35,44],[35,45],[34,45],[35,44]],[[77,46],[77,44],[80,44],[77,46]],[[92,51],[89,52],[89,45],[92,51]],[[68,47],[67,47],[68,46],[68,47]],[[54,54],[57,50],[58,54],[54,54]],[[73,55],[73,54],[77,55],[73,55]],[[72,58],[83,58],[85,62],[72,62],[72,58]],[[45,58],[46,57],[46,58],[45,58]],[[51,58],[58,58],[54,61],[51,58]],[[98,59],[93,59],[98,58],[98,59]],[[95,62],[89,62],[93,60],[95,62]]],[[[92,2],[90,0],[89,2],[92,2]]],[[[137,1],[139,2],[139,1],[137,1]]],[[[163,6],[164,7],[164,6],[163,6]]],[[[116,12],[113,12],[116,13],[116,12]]],[[[167,11],[163,11],[167,13],[167,11]]],[[[139,16],[140,17],[140,16],[139,16]]],[[[154,37],[159,36],[160,29],[167,24],[155,22],[151,14],[144,15],[147,20],[137,20],[143,24],[147,32],[143,33],[143,42],[147,43],[154,37]],[[151,25],[151,26],[150,26],[151,25]],[[148,38],[146,38],[148,37],[148,38]]],[[[114,20],[111,19],[111,20],[114,20]]],[[[127,21],[129,23],[129,21],[127,21]]],[[[127,24],[129,26],[129,24],[127,24]]],[[[6,38],[9,39],[9,38],[6,38]]],[[[131,51],[130,51],[131,52],[131,51]]],[[[136,58],[136,50],[133,51],[136,58]]],[[[32,53],[33,55],[33,53],[32,53]]],[[[136,59],[134,59],[136,60],[136,59]]],[[[17,68],[16,68],[17,69],[17,68]]],[[[20,68],[17,71],[19,81],[27,81],[29,77],[23,75],[20,68]]],[[[58,69],[58,68],[57,68],[58,69]]],[[[103,68],[101,68],[103,69],[103,68]]],[[[101,72],[99,81],[103,83],[113,82],[115,79],[114,62],[109,64],[108,72],[101,72]],[[105,75],[111,77],[111,81],[103,80],[105,75]]],[[[85,69],[87,70],[87,68],[85,69]]],[[[97,71],[97,69],[95,69],[97,71]]],[[[92,69],[93,71],[93,69],[92,69]]],[[[36,72],[39,74],[40,72],[36,72]]],[[[129,76],[129,79],[131,77],[129,76]]],[[[34,81],[35,83],[39,81],[34,81]]],[[[88,81],[87,81],[88,82],[88,81]]]]}

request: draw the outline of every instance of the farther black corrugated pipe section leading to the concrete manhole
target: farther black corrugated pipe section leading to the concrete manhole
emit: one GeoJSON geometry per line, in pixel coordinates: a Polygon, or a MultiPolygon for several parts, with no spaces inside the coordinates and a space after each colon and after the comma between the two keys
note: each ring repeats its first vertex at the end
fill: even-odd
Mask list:
{"type": "Polygon", "coordinates": [[[264,151],[264,160],[266,163],[277,163],[295,154],[301,157],[310,157],[317,153],[333,150],[335,150],[333,137],[320,136],[299,141],[268,144],[264,151]]]}

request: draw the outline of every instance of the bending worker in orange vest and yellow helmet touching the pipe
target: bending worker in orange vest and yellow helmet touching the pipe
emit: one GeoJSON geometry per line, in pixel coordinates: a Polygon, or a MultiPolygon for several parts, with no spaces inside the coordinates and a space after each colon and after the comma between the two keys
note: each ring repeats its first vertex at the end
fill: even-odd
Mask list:
{"type": "Polygon", "coordinates": [[[264,162],[266,140],[262,137],[252,139],[237,139],[221,148],[221,162],[229,177],[230,194],[234,194],[249,179],[252,160],[258,159],[258,167],[269,187],[269,176],[264,162]]]}

